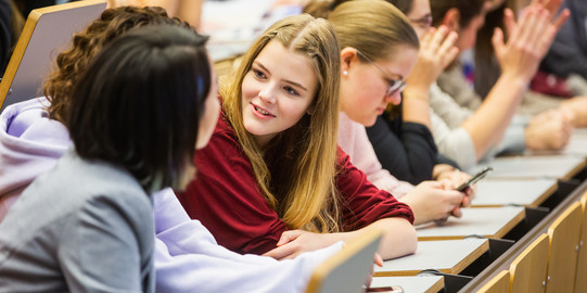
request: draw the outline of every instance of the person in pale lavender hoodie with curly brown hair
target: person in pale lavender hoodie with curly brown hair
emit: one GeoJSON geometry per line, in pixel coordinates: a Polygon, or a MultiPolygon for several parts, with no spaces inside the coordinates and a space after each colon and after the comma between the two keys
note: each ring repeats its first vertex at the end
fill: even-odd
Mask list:
{"type": "MultiPolygon", "coordinates": [[[[52,168],[71,145],[66,128],[55,117],[66,113],[65,107],[60,110],[59,102],[66,104],[67,85],[76,82],[78,71],[82,71],[101,47],[117,35],[155,23],[180,25],[158,9],[105,11],[74,37],[78,41],[60,55],[62,63],[52,80],[63,84],[53,84],[60,86],[52,90],[46,88],[52,102],[56,101],[54,104],[39,98],[3,111],[0,115],[0,202],[4,212],[9,207],[7,203],[14,201],[37,176],[52,168]],[[91,51],[80,50],[79,46],[87,43],[84,40],[93,43],[91,51]],[[79,66],[66,69],[71,68],[63,66],[67,56],[75,59],[79,66]],[[49,105],[53,107],[48,111],[49,105]]],[[[336,243],[285,262],[243,256],[217,245],[200,221],[189,219],[170,190],[153,194],[153,201],[156,290],[161,292],[302,292],[314,267],[342,245],[336,243]]],[[[4,212],[0,212],[0,217],[4,212]]]]}

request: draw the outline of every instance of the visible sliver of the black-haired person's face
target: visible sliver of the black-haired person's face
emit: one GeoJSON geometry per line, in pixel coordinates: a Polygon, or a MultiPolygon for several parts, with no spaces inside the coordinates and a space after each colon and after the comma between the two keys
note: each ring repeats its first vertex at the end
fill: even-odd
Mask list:
{"type": "Polygon", "coordinates": [[[212,137],[216,123],[218,122],[218,115],[220,114],[220,102],[218,101],[218,81],[216,80],[216,73],[214,69],[212,69],[210,78],[212,85],[208,95],[206,97],[206,101],[204,102],[205,109],[197,128],[195,149],[202,149],[208,144],[209,138],[212,137]]]}

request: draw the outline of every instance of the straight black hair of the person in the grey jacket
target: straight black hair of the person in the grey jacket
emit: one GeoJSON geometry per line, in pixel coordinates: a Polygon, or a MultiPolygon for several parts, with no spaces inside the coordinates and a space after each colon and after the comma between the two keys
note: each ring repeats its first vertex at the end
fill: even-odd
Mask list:
{"type": "Polygon", "coordinates": [[[148,25],[105,47],[72,93],[66,126],[78,155],[127,169],[148,192],[177,187],[210,90],[206,41],[148,25]]]}

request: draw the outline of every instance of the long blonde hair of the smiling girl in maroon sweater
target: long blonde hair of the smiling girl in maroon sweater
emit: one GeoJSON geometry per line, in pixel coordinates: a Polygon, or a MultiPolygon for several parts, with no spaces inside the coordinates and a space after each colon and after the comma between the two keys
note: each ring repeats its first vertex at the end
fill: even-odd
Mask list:
{"type": "Polygon", "coordinates": [[[340,76],[339,46],[332,26],[326,20],[303,14],[265,30],[243,56],[233,82],[220,89],[224,110],[251,161],[259,191],[291,229],[339,231],[334,177],[340,76]],[[243,125],[242,84],[254,60],[271,40],[310,60],[318,90],[311,114],[305,114],[261,150],[243,125]]]}

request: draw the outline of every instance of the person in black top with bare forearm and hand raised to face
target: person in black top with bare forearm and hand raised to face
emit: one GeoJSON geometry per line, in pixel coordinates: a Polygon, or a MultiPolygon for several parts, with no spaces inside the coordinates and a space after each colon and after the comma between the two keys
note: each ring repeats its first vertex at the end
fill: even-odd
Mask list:
{"type": "MultiPolygon", "coordinates": [[[[429,0],[388,0],[410,21],[420,51],[413,71],[407,77],[401,103],[388,106],[367,133],[384,169],[399,180],[418,184],[424,180],[448,179],[459,184],[469,175],[455,169],[454,163],[437,153],[432,137],[429,89],[454,60],[456,33],[447,27],[431,29],[429,0]],[[447,162],[448,164],[443,164],[447,162]]],[[[469,190],[474,195],[474,190],[469,190]]],[[[467,199],[468,202],[471,198],[467,199]]],[[[468,203],[465,203],[467,205],[468,203]]]]}

